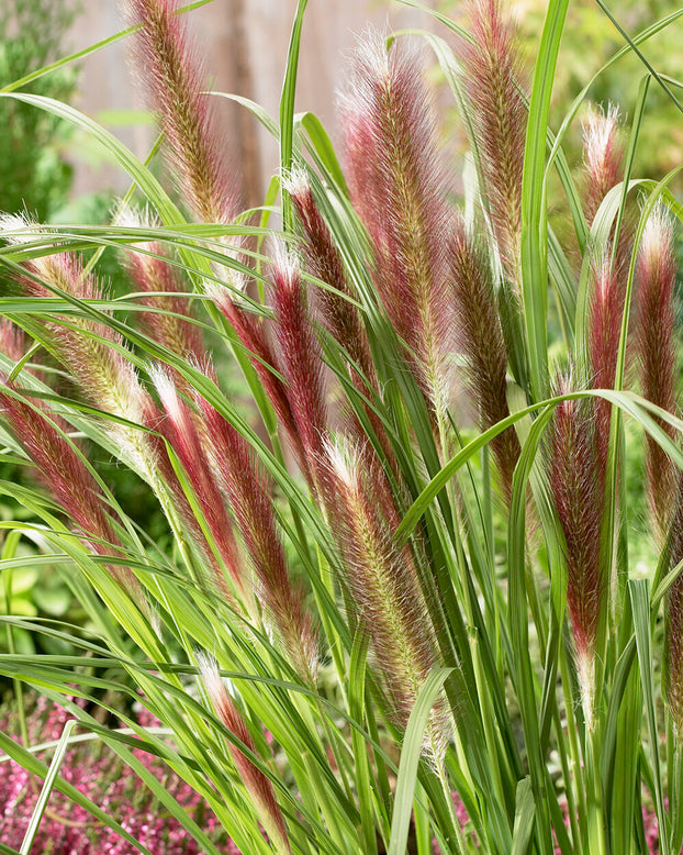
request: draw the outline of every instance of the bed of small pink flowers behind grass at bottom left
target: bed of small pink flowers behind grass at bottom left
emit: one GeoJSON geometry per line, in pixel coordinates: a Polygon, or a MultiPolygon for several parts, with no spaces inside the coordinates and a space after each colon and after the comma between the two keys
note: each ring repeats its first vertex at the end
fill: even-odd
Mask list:
{"type": "MultiPolygon", "coordinates": [[[[69,714],[41,699],[29,719],[32,744],[58,740],[69,714]]],[[[138,715],[144,726],[158,725],[148,713],[138,715]]],[[[9,717],[0,719],[0,729],[12,733],[9,717]]],[[[226,840],[215,815],[201,797],[161,760],[143,751],[138,759],[164,785],[166,790],[192,817],[202,831],[225,855],[239,855],[226,840]]],[[[49,757],[42,757],[46,763],[49,757]]],[[[203,850],[163,804],[154,799],[112,752],[98,742],[75,745],[60,769],[64,780],[76,787],[112,819],[119,822],[153,855],[199,855],[203,850]]],[[[42,781],[13,762],[0,764],[0,843],[19,850],[32,815],[42,781]]],[[[97,821],[85,808],[53,791],[34,842],[34,852],[43,855],[134,855],[135,846],[115,831],[97,821]]]]}

